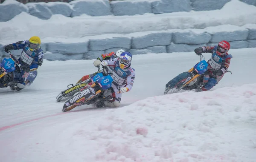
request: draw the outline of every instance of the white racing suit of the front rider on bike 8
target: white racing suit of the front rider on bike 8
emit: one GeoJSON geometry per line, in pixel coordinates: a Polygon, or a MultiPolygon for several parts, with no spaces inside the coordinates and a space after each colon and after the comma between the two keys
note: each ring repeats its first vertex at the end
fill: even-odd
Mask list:
{"type": "Polygon", "coordinates": [[[119,58],[114,60],[104,60],[101,63],[102,66],[109,66],[112,71],[111,77],[112,82],[112,97],[110,101],[105,101],[106,107],[118,107],[122,98],[122,93],[131,91],[135,79],[135,70],[129,66],[128,68],[122,69],[119,65],[119,58]]]}

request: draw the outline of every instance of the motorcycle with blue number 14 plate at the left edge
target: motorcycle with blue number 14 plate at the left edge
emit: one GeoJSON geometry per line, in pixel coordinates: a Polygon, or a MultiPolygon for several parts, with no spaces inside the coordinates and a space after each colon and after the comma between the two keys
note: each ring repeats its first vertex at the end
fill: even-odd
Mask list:
{"type": "Polygon", "coordinates": [[[10,58],[4,58],[0,64],[0,88],[10,86],[12,90],[17,90],[17,82],[20,78],[25,78],[26,85],[30,85],[37,76],[36,69],[31,69],[28,73],[25,72],[22,76],[23,65],[20,65],[17,58],[9,52],[10,58]]]}

